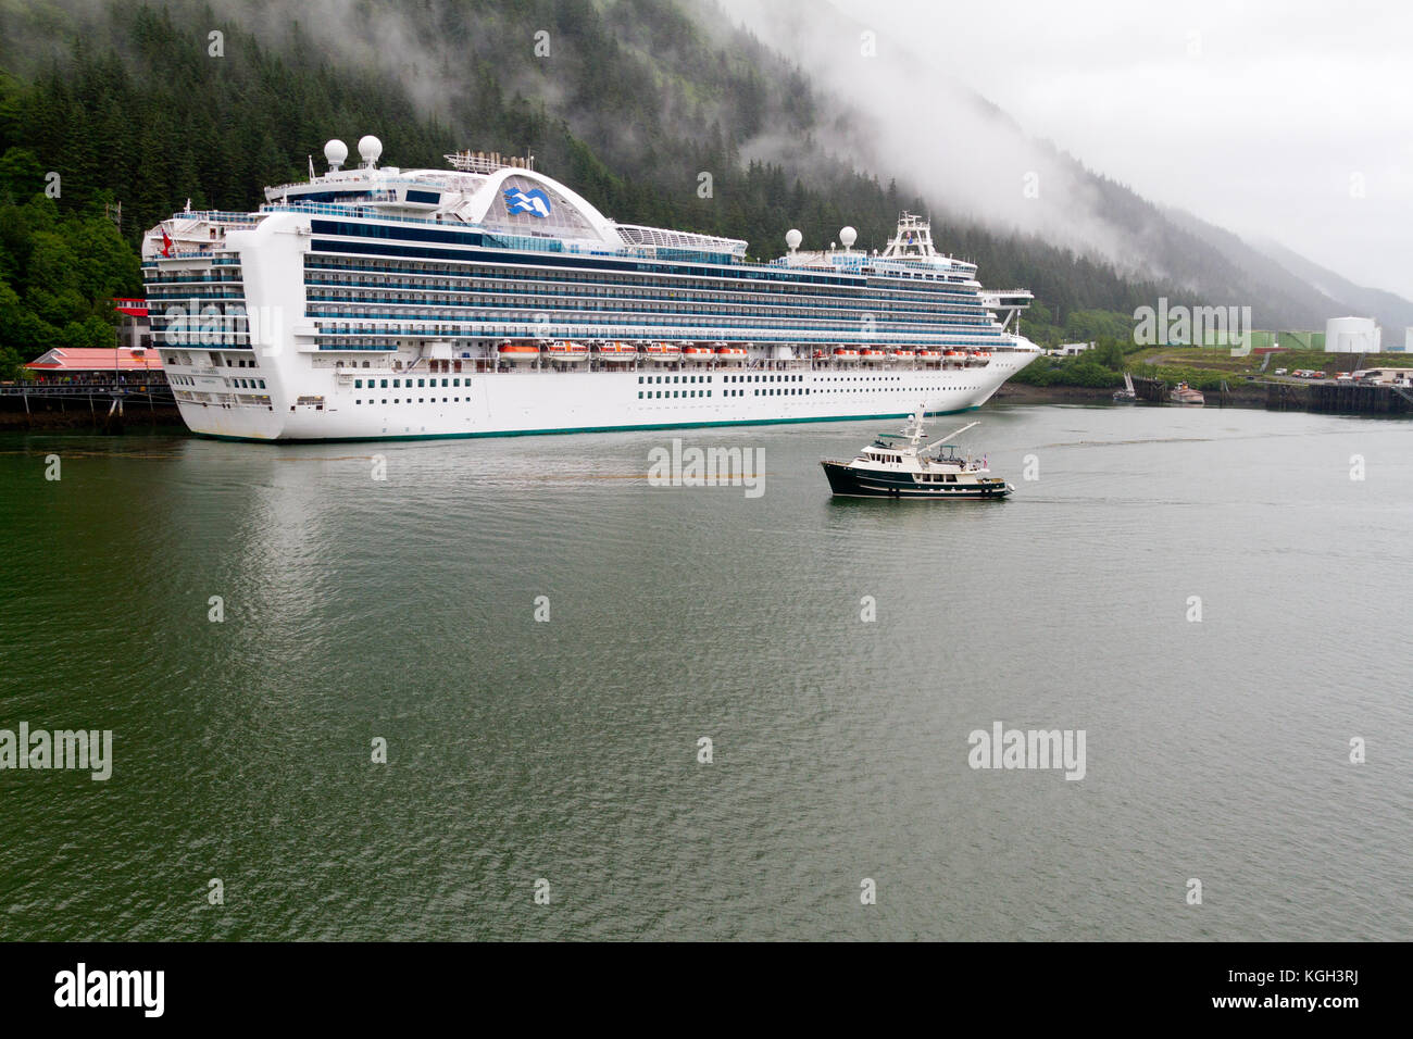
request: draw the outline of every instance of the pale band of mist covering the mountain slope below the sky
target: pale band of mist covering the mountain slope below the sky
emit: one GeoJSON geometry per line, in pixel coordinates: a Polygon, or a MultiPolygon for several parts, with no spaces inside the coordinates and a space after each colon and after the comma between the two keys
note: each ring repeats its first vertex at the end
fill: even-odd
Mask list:
{"type": "MultiPolygon", "coordinates": [[[[1258,327],[1324,328],[1335,314],[1366,314],[1402,327],[1413,304],[1368,290],[1289,250],[1255,246],[1198,218],[1159,208],[1075,157],[1024,134],[998,106],[951,78],[947,62],[894,23],[858,23],[828,3],[697,0],[702,17],[719,4],[764,38],[807,61],[828,92],[817,103],[828,144],[855,155],[886,155],[892,172],[951,213],[983,226],[1024,228],[1048,242],[1104,256],[1170,298],[1251,305],[1258,327]],[[880,55],[859,61],[861,31],[880,55]],[[926,98],[926,105],[897,103],[926,98]],[[1033,174],[1043,189],[1017,187],[1033,174]]],[[[983,17],[978,13],[976,17],[983,17]]],[[[1116,131],[1122,131],[1116,127],[1116,131]]]]}

